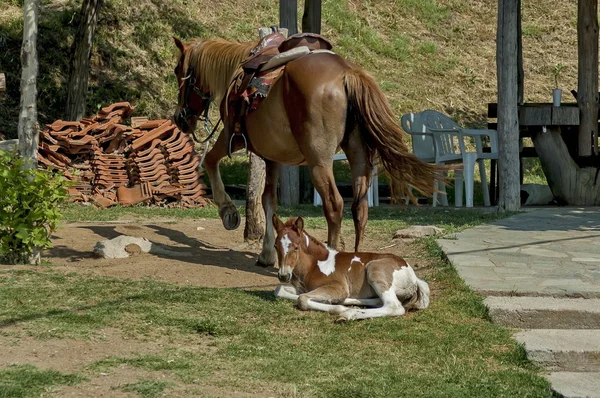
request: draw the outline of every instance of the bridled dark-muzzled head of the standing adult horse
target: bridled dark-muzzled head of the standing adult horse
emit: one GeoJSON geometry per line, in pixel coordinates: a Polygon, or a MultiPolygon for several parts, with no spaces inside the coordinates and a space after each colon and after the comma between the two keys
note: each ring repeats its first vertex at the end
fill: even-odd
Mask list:
{"type": "Polygon", "coordinates": [[[200,71],[195,66],[196,60],[191,56],[193,47],[198,46],[200,42],[189,45],[189,43],[182,43],[176,37],[173,39],[180,51],[175,67],[175,76],[179,84],[179,100],[173,118],[181,131],[193,134],[198,118],[207,116],[206,112],[211,100],[208,90],[200,85],[198,79],[200,71]]]}

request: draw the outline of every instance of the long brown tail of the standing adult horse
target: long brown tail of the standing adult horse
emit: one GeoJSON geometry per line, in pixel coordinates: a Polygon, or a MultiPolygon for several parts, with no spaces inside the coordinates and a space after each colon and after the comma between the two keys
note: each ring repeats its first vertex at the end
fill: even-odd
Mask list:
{"type": "Polygon", "coordinates": [[[409,185],[423,195],[432,196],[436,173],[445,168],[425,163],[417,158],[404,142],[403,131],[383,91],[367,72],[352,67],[344,74],[344,86],[357,121],[366,135],[367,144],[373,146],[385,170],[415,202],[409,185]]]}

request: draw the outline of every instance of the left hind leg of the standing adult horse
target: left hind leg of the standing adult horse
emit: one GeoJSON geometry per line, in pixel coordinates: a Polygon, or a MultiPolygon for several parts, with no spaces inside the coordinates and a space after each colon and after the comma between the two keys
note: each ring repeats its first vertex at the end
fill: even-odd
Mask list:
{"type": "Polygon", "coordinates": [[[323,213],[327,220],[327,244],[332,249],[343,249],[341,231],[344,200],[333,178],[333,159],[327,166],[309,164],[308,169],[312,183],[323,200],[323,213]]]}

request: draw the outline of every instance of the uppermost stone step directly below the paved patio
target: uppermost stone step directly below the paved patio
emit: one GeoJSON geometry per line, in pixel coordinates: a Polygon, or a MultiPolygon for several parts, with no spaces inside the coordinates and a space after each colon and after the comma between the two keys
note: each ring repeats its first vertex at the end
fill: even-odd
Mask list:
{"type": "Polygon", "coordinates": [[[519,329],[600,329],[600,299],[499,297],[485,299],[492,320],[519,329]]]}

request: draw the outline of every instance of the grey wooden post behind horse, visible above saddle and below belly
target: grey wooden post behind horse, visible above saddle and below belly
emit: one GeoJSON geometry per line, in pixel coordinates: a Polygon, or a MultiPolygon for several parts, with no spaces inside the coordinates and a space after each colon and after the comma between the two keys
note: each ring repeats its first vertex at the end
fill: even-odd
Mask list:
{"type": "MultiPolygon", "coordinates": [[[[279,0],[279,26],[287,28],[288,34],[298,33],[298,3],[296,0],[279,0]]],[[[296,206],[300,200],[300,170],[298,166],[282,166],[280,202],[284,206],[296,206]]]]}

